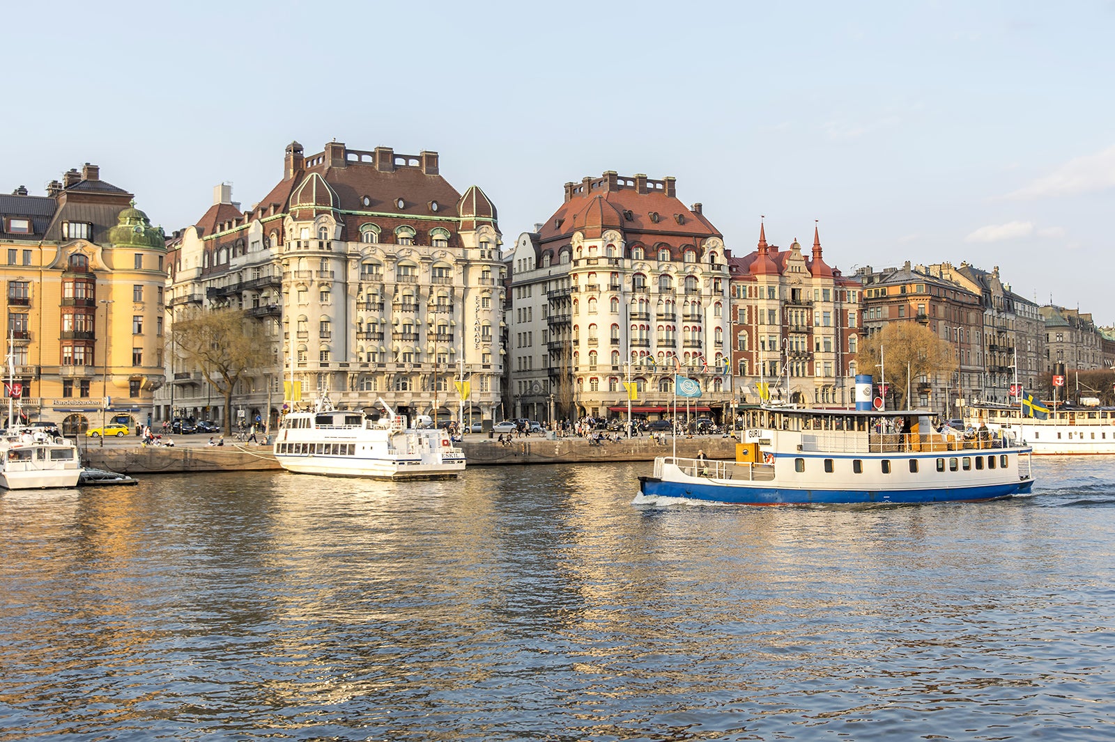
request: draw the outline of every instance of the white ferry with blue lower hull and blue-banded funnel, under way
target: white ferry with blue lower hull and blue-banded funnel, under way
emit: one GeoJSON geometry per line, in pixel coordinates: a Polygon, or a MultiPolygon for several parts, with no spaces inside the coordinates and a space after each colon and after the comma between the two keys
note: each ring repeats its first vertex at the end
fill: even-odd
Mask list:
{"type": "Polygon", "coordinates": [[[918,410],[762,407],[735,461],[658,457],[651,497],[743,505],[995,500],[1030,491],[1030,448],[1005,435],[934,431],[918,410]]]}

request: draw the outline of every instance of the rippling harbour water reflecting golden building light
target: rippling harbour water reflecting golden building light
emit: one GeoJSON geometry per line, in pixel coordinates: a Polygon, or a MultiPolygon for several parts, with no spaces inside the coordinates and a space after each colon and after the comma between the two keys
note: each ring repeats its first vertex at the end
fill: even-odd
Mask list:
{"type": "Polygon", "coordinates": [[[0,740],[1115,736],[1115,460],[640,502],[649,463],[0,494],[0,740]],[[634,501],[633,501],[634,500],[634,501]]]}

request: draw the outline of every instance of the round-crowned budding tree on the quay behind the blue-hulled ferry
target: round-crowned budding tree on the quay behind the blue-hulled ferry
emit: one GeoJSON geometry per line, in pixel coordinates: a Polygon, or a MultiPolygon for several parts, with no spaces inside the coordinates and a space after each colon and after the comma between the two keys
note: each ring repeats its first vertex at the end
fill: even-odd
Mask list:
{"type": "Polygon", "coordinates": [[[917,384],[922,375],[927,379],[935,373],[951,375],[957,369],[952,345],[918,322],[890,322],[864,339],[855,357],[860,373],[870,373],[880,381],[882,370],[879,365],[883,361],[886,367],[883,381],[890,384],[890,396],[900,408],[909,406],[905,399],[908,379],[917,384]]]}

